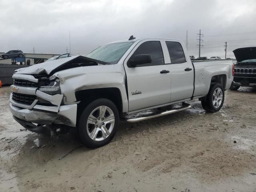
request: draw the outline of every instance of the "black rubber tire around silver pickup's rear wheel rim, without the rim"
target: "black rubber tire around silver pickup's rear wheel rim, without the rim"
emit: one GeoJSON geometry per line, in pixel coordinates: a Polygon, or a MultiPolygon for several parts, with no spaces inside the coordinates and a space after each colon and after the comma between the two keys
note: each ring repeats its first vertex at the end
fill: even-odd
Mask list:
{"type": "Polygon", "coordinates": [[[222,108],[222,105],[224,103],[224,98],[225,98],[225,92],[224,92],[224,88],[223,88],[222,84],[220,84],[220,83],[212,84],[206,98],[204,98],[201,101],[201,104],[202,104],[202,107],[204,108],[204,110],[206,110],[207,112],[214,113],[214,112],[219,111],[222,108]],[[217,88],[220,88],[222,90],[223,97],[222,97],[221,104],[218,107],[215,107],[213,104],[213,95],[214,95],[214,91],[217,88]]]}

